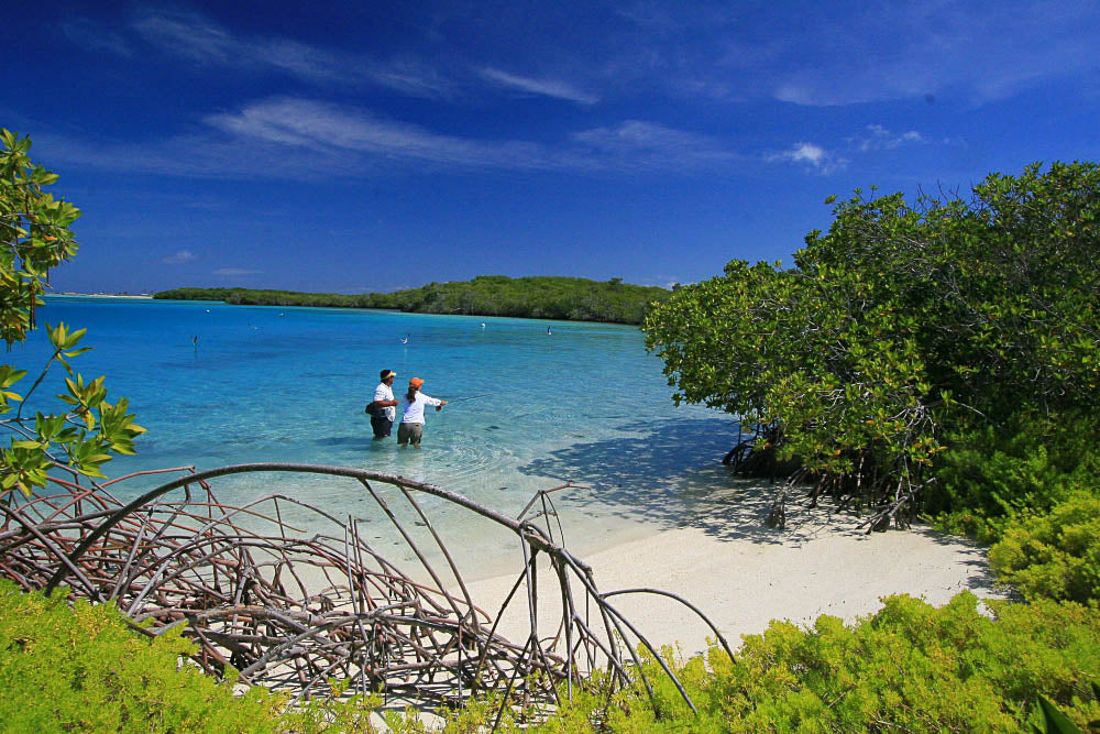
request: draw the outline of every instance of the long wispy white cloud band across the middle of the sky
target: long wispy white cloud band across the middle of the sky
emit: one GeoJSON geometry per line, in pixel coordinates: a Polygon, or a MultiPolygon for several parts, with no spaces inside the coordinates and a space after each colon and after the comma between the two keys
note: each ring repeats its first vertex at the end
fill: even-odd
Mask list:
{"type": "Polygon", "coordinates": [[[207,116],[205,128],[160,141],[95,145],[42,135],[53,158],[173,176],[363,178],[397,166],[590,173],[722,171],[748,158],[714,138],[641,120],[593,128],[557,144],[480,140],[387,120],[370,110],[293,97],[207,116]]]}

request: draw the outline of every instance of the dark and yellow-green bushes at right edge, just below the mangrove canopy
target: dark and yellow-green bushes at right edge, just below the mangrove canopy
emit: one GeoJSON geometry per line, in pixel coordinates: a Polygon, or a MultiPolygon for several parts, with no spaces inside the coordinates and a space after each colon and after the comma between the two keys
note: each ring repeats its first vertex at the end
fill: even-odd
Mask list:
{"type": "Polygon", "coordinates": [[[1025,599],[1100,601],[1098,423],[1020,415],[955,437],[926,508],[991,544],[998,582],[1025,599]]]}

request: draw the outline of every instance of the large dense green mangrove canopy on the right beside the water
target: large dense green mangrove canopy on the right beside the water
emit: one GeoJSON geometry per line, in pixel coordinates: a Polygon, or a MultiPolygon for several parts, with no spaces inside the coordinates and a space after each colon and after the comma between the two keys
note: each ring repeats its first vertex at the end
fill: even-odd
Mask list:
{"type": "Polygon", "coordinates": [[[857,190],[833,213],[793,267],[733,261],[648,315],[678,402],[760,426],[757,454],[891,513],[963,429],[1094,413],[1100,167],[1035,164],[914,206],[857,190]]]}

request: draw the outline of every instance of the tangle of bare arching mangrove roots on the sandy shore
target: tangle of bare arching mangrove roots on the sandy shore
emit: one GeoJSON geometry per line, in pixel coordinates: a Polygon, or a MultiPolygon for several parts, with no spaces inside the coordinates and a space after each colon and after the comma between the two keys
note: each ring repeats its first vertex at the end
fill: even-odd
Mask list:
{"type": "Polygon", "coordinates": [[[573,687],[586,686],[596,670],[607,672],[613,688],[640,679],[652,695],[640,646],[653,653],[694,709],[649,640],[607,601],[624,593],[680,601],[732,656],[714,625],[675,594],[597,590],[592,569],[556,541],[550,494],[570,485],[539,492],[519,518],[510,518],[432,484],[340,467],[256,463],[188,472],[129,503],[106,485],[54,482],[55,493],[10,493],[0,502],[0,573],[24,590],[51,593],[65,584],[73,596],[113,601],[145,634],[180,627],[197,643],[193,657],[206,671],[222,676],[232,666],[240,682],[287,691],[294,701],[328,694],[336,678],[351,681],[352,692],[381,691],[387,700],[426,706],[492,692],[501,697],[498,719],[506,709],[539,716],[561,702],[562,692],[568,698],[573,687]],[[241,507],[218,502],[210,481],[244,472],[358,482],[374,500],[370,514],[393,524],[403,552],[417,559],[415,568],[400,569],[372,547],[359,521],[340,522],[294,497],[273,494],[241,507]],[[471,599],[417,501],[426,495],[476,513],[518,539],[522,571],[495,617],[471,599]],[[400,510],[411,508],[417,527],[398,519],[393,501],[407,503],[400,510]],[[284,519],[288,511],[312,514],[331,532],[297,537],[284,519]],[[529,513],[543,526],[525,519],[529,513]],[[549,558],[562,609],[548,633],[538,626],[540,555],[549,558]],[[526,606],[526,638],[509,640],[497,632],[510,604],[526,606]]]}

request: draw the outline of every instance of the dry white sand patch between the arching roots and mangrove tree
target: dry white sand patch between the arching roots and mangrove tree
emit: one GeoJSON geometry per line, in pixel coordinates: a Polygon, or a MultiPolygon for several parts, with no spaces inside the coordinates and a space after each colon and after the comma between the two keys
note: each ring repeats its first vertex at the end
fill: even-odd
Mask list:
{"type": "MultiPolygon", "coordinates": [[[[763,632],[771,620],[812,625],[822,614],[853,622],[881,609],[880,598],[906,593],[943,605],[963,590],[1000,598],[986,549],[927,528],[865,535],[851,516],[794,508],[785,530],[740,536],[705,525],[657,530],[583,556],[601,592],[654,588],[698,606],[736,649],[741,635],[763,632]],[[793,515],[793,517],[792,517],[793,515]]],[[[548,578],[549,573],[541,577],[548,578]]],[[[470,583],[474,602],[491,614],[512,589],[514,574],[470,583]]],[[[656,644],[679,644],[691,655],[713,633],[673,600],[624,595],[614,605],[656,644]]],[[[558,614],[554,593],[540,592],[540,629],[558,614]],[[543,603],[541,600],[547,600],[543,603]]],[[[502,632],[526,636],[525,610],[505,616],[502,632]]]]}

